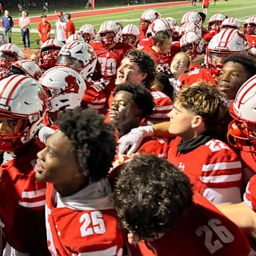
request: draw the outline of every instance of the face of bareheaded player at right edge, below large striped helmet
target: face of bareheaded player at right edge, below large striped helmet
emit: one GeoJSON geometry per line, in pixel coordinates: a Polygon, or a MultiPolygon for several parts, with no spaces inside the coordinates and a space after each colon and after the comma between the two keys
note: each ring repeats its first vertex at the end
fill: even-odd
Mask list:
{"type": "Polygon", "coordinates": [[[220,71],[218,87],[225,93],[228,100],[234,100],[240,86],[250,77],[240,63],[228,61],[220,71]]]}

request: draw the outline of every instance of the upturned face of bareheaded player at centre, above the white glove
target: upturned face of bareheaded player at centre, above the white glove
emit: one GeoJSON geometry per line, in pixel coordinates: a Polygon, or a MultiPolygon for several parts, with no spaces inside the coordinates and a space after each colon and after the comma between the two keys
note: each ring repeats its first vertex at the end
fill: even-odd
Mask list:
{"type": "Polygon", "coordinates": [[[119,91],[114,95],[110,108],[110,122],[117,129],[128,130],[133,127],[139,119],[139,107],[132,100],[132,94],[127,91],[119,91]]]}

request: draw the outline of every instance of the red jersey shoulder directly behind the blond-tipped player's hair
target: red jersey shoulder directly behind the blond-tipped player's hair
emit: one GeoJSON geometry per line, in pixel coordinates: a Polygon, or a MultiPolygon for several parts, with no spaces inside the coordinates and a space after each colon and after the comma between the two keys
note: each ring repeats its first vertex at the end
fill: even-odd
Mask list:
{"type": "Polygon", "coordinates": [[[212,85],[216,85],[215,78],[210,74],[207,68],[195,69],[188,73],[182,74],[176,83],[176,91],[178,92],[183,87],[193,85],[194,82],[206,81],[212,85]]]}

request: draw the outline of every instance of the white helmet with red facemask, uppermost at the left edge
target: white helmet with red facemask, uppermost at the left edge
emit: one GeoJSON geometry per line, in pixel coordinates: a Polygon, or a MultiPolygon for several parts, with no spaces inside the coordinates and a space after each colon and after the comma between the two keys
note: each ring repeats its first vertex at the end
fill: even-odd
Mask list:
{"type": "Polygon", "coordinates": [[[1,68],[9,68],[11,63],[17,60],[23,60],[23,52],[13,43],[6,43],[0,47],[0,66],[1,68]]]}

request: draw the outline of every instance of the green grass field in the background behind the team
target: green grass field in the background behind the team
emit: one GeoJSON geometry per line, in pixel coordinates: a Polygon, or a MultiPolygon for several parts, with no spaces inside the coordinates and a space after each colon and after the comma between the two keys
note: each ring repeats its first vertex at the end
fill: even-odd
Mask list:
{"type": "MultiPolygon", "coordinates": [[[[235,17],[238,18],[240,21],[240,25],[244,23],[245,19],[247,19],[250,16],[256,16],[256,0],[228,0],[228,6],[225,6],[225,2],[218,1],[218,4],[216,6],[213,6],[213,2],[210,2],[210,6],[208,9],[208,16],[206,18],[206,22],[204,26],[207,27],[207,21],[215,13],[222,13],[227,15],[228,17],[235,17]]],[[[198,3],[197,3],[198,5],[198,3]]],[[[122,7],[122,6],[118,6],[122,7]]],[[[83,11],[85,9],[76,9],[76,10],[69,10],[69,12],[72,14],[73,11],[83,11]]],[[[146,10],[146,9],[145,9],[146,10]]],[[[174,17],[180,23],[181,18],[183,14],[186,13],[186,11],[202,11],[201,6],[196,6],[196,8],[193,8],[190,5],[183,5],[183,6],[169,6],[169,7],[163,7],[163,8],[156,8],[157,11],[161,13],[161,16],[163,18],[165,17],[174,17]]],[[[124,26],[129,23],[134,23],[137,26],[139,25],[139,18],[142,15],[142,12],[144,10],[138,10],[138,11],[127,11],[117,14],[105,14],[105,15],[97,15],[97,16],[90,16],[90,17],[84,17],[84,18],[73,18],[73,22],[75,23],[75,28],[78,30],[80,26],[82,26],[85,23],[91,23],[94,25],[97,29],[100,28],[100,25],[107,20],[114,20],[122,23],[124,26]]],[[[37,13],[39,14],[39,13],[37,13]]],[[[50,14],[50,13],[49,13],[50,14]]],[[[35,16],[36,13],[30,14],[30,16],[35,16]]],[[[55,21],[50,21],[50,24],[52,28],[55,28],[55,21]]],[[[37,28],[38,23],[31,24],[31,28],[37,28]]],[[[18,28],[18,26],[15,26],[18,28]]],[[[36,40],[39,39],[38,33],[32,33],[31,34],[31,48],[33,49],[39,49],[40,46],[36,44],[36,40]]],[[[17,46],[23,47],[23,43],[21,41],[21,33],[14,32],[12,33],[12,43],[15,43],[17,46]]]]}

